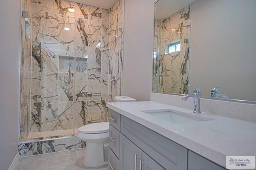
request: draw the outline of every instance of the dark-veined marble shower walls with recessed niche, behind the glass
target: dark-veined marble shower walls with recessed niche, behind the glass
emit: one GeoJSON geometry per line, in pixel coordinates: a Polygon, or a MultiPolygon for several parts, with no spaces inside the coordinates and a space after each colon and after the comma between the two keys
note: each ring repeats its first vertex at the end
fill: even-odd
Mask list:
{"type": "Polygon", "coordinates": [[[31,38],[22,36],[29,55],[22,55],[20,114],[28,131],[20,139],[108,121],[105,103],[121,93],[123,1],[110,10],[65,0],[24,0],[23,7],[31,38]]]}

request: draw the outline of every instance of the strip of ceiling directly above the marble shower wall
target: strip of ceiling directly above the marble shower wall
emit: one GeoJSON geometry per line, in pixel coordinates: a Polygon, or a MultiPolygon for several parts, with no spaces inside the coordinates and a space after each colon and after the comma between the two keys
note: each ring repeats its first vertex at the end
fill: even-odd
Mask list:
{"type": "Polygon", "coordinates": [[[70,0],[72,2],[77,2],[81,4],[86,4],[90,6],[96,6],[100,8],[110,9],[116,0],[70,0]]]}

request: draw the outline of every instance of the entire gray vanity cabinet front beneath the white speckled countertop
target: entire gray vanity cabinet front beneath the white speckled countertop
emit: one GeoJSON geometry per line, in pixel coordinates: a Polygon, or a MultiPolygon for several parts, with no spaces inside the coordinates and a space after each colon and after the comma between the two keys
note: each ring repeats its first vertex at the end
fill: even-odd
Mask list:
{"type": "Polygon", "coordinates": [[[224,170],[110,109],[109,170],[224,170]]]}

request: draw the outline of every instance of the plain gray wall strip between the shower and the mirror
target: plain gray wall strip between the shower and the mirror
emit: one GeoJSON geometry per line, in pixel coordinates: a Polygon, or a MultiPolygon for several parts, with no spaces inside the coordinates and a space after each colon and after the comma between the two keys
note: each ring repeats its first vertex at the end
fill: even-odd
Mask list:
{"type": "Polygon", "coordinates": [[[137,101],[149,101],[152,91],[155,1],[124,1],[123,95],[137,101]]]}

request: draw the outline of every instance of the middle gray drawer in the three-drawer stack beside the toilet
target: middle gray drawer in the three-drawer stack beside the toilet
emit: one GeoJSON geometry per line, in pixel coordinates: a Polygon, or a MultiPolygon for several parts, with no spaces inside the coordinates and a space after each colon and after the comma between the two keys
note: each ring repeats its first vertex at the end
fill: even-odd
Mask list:
{"type": "Polygon", "coordinates": [[[120,132],[116,130],[112,125],[109,125],[109,147],[119,158],[119,140],[120,140],[120,132]]]}

